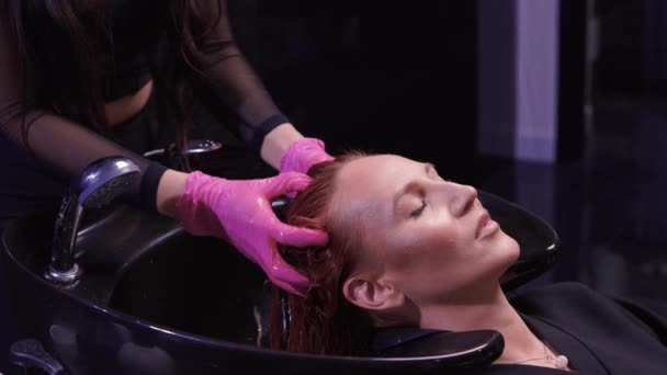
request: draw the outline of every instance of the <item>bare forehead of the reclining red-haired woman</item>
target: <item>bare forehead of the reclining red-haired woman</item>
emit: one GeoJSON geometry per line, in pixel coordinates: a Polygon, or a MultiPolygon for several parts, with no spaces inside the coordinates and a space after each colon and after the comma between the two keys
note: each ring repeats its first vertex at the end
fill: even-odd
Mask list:
{"type": "Polygon", "coordinates": [[[341,168],[336,202],[350,214],[376,216],[391,209],[394,195],[422,170],[421,163],[395,155],[359,158],[341,168]]]}

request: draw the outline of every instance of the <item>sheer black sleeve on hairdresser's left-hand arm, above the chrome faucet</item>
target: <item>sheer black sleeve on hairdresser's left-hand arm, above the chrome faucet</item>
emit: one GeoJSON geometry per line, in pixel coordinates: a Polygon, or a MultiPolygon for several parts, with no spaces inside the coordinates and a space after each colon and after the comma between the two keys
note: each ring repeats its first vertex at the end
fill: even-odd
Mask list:
{"type": "Polygon", "coordinates": [[[15,43],[0,20],[0,134],[19,145],[55,174],[72,178],[90,162],[123,156],[142,170],[140,181],[127,194],[131,202],[156,209],[156,192],[165,167],[151,162],[117,143],[54,113],[26,109],[15,43]],[[23,137],[24,124],[31,124],[23,137]]]}

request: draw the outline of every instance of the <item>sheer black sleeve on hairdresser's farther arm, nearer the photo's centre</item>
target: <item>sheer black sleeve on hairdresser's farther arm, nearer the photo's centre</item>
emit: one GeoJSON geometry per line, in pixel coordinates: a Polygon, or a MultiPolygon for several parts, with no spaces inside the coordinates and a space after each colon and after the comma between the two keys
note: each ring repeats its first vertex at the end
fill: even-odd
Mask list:
{"type": "Polygon", "coordinates": [[[241,120],[241,136],[259,152],[267,133],[289,120],[237,47],[226,1],[194,1],[189,23],[196,45],[193,63],[241,120]]]}

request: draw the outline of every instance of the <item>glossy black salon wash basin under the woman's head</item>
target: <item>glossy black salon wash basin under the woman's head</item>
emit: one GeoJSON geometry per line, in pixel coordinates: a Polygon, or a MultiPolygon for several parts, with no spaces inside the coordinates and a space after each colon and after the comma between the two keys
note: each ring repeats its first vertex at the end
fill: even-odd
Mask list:
{"type": "MultiPolygon", "coordinates": [[[[558,239],[546,223],[479,196],[522,246],[504,287],[556,261],[558,239]]],[[[54,219],[41,213],[8,227],[2,263],[22,338],[41,343],[69,374],[442,373],[452,365],[448,352],[342,357],[269,350],[262,322],[270,286],[257,265],[222,240],[190,236],[172,219],[122,204],[88,216],[77,240],[83,276],[56,287],[43,276],[54,219]]],[[[498,338],[462,340],[474,348],[498,338]]]]}

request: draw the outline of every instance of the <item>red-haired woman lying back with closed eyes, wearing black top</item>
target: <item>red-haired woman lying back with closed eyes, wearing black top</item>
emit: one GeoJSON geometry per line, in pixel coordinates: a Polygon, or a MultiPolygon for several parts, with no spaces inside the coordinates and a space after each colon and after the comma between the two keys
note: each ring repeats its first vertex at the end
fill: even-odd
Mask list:
{"type": "MultiPolygon", "coordinates": [[[[308,174],[314,180],[285,220],[324,229],[329,242],[281,248],[313,285],[303,297],[289,296],[287,332],[273,315],[275,349],[360,355],[383,327],[493,329],[505,349],[487,372],[667,370],[660,341],[667,320],[652,311],[642,310],[654,318],[648,326],[578,283],[508,300],[499,280],[517,261],[518,242],[489,217],[474,188],[442,179],[432,164],[349,154],[308,174]]],[[[274,312],[281,293],[274,293],[274,312]]]]}

